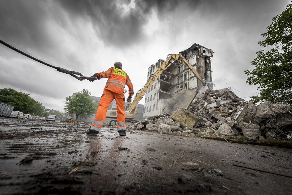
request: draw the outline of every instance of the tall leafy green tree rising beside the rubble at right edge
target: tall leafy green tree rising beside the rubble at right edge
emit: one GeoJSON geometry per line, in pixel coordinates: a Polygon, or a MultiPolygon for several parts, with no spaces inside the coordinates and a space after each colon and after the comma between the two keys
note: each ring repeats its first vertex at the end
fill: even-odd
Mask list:
{"type": "Polygon", "coordinates": [[[253,70],[245,70],[247,84],[258,85],[260,95],[252,96],[255,102],[270,100],[292,105],[292,1],[286,9],[272,19],[265,40],[259,44],[272,46],[267,52],[256,53],[251,62],[253,70]]]}

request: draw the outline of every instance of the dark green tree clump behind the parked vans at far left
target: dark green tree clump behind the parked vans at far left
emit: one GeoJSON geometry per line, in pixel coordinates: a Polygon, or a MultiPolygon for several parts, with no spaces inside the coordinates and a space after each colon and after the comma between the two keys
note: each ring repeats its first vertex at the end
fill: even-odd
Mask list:
{"type": "Polygon", "coordinates": [[[41,109],[41,104],[29,97],[29,94],[11,88],[0,89],[0,102],[14,106],[14,110],[23,113],[33,113],[34,110],[41,109]]]}

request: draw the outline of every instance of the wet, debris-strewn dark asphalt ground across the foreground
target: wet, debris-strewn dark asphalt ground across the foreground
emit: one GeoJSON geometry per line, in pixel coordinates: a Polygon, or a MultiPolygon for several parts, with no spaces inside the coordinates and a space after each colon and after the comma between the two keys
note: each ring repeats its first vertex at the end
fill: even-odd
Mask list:
{"type": "Polygon", "coordinates": [[[87,128],[0,118],[0,194],[292,194],[292,178],[234,166],[292,175],[290,149],[87,128]]]}

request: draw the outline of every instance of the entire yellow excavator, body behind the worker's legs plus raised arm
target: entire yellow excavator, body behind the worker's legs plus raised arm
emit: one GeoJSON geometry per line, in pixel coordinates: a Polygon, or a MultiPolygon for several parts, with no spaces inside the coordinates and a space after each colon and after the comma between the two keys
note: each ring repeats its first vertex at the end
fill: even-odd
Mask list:
{"type": "MultiPolygon", "coordinates": [[[[135,122],[133,119],[138,109],[138,103],[145,95],[147,90],[152,86],[154,81],[158,79],[158,77],[166,70],[170,65],[173,63],[183,64],[186,65],[192,73],[199,79],[200,82],[203,84],[205,80],[197,73],[197,71],[192,67],[192,65],[183,57],[182,54],[168,54],[166,60],[161,64],[161,66],[156,70],[155,73],[150,75],[149,79],[147,80],[146,84],[142,89],[140,89],[133,99],[131,104],[125,106],[125,115],[126,115],[126,122],[135,122]]],[[[112,110],[107,110],[106,118],[117,118],[117,108],[112,108],[112,110]]],[[[117,120],[111,120],[109,125],[115,125],[117,120]]]]}

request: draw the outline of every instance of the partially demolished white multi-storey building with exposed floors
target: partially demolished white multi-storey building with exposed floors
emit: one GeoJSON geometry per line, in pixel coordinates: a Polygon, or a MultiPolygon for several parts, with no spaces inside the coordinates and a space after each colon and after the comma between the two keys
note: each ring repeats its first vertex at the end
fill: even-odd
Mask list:
{"type": "MultiPolygon", "coordinates": [[[[213,51],[195,43],[190,48],[181,51],[180,54],[183,54],[199,75],[209,84],[209,89],[212,89],[211,57],[213,57],[213,51]]],[[[148,68],[147,80],[163,62],[159,59],[148,68]]],[[[206,90],[185,65],[173,64],[160,75],[145,94],[143,118],[163,113],[163,108],[178,89],[201,92],[206,90]]]]}

